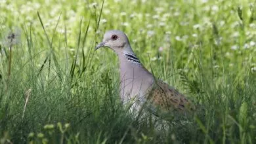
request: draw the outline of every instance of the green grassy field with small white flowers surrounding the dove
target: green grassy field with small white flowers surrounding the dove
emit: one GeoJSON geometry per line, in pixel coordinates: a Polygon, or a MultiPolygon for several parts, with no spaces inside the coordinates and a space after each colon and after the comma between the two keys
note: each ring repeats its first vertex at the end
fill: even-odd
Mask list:
{"type": "Polygon", "coordinates": [[[255,37],[253,0],[0,0],[0,143],[256,143],[255,37]],[[110,29],[196,111],[134,118],[110,29]]]}

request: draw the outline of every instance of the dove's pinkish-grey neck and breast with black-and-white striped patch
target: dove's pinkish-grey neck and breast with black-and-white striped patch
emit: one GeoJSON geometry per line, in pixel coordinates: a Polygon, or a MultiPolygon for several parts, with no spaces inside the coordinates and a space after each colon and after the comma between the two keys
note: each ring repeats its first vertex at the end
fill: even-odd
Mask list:
{"type": "MultiPolygon", "coordinates": [[[[133,96],[144,96],[154,81],[152,74],[144,68],[133,51],[118,53],[120,67],[120,96],[123,101],[133,96]]],[[[139,98],[138,97],[138,98],[139,98]]]]}

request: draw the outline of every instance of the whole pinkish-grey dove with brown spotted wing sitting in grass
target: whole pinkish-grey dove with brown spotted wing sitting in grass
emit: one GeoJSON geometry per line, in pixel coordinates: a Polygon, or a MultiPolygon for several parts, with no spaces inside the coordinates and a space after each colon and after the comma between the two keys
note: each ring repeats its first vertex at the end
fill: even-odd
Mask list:
{"type": "Polygon", "coordinates": [[[171,111],[190,111],[193,103],[173,86],[154,77],[137,58],[125,33],[110,30],[104,34],[103,41],[95,50],[107,47],[116,52],[119,58],[119,94],[123,104],[132,103],[139,111],[142,105],[154,115],[171,111]]]}

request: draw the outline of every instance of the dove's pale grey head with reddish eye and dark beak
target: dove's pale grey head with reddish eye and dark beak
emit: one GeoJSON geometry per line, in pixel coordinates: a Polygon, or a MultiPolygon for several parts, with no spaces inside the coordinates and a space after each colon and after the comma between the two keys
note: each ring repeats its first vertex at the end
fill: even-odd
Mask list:
{"type": "Polygon", "coordinates": [[[95,50],[97,50],[102,46],[111,48],[115,52],[119,52],[123,50],[131,51],[131,46],[125,33],[117,30],[107,31],[104,34],[103,41],[95,47],[95,50]]]}

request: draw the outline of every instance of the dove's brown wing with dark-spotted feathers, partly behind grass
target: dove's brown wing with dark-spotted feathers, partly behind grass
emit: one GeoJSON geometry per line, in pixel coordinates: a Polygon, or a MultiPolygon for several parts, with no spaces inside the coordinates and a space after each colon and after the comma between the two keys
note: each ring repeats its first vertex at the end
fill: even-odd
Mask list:
{"type": "Polygon", "coordinates": [[[194,110],[191,101],[163,81],[155,82],[148,94],[148,101],[150,101],[151,109],[154,107],[165,112],[194,110]]]}

